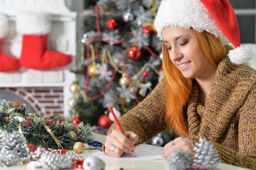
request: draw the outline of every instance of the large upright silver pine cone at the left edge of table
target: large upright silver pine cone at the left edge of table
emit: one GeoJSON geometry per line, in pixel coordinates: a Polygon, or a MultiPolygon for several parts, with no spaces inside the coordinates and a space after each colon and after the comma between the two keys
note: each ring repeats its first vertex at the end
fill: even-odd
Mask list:
{"type": "Polygon", "coordinates": [[[7,133],[0,148],[0,165],[4,167],[14,166],[29,159],[27,140],[18,131],[7,133]]]}

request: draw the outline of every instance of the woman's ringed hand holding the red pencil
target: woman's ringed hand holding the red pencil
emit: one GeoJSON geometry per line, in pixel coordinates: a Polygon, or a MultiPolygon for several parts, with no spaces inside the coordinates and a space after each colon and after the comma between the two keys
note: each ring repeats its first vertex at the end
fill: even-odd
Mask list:
{"type": "Polygon", "coordinates": [[[121,157],[124,152],[128,153],[135,149],[134,144],[138,139],[138,135],[134,132],[125,132],[124,135],[120,130],[113,130],[106,136],[105,153],[112,157],[121,157]]]}

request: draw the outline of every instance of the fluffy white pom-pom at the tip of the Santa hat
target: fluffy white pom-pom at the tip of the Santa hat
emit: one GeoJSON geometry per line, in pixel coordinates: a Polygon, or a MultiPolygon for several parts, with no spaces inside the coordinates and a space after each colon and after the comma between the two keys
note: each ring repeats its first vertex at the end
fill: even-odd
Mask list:
{"type": "Polygon", "coordinates": [[[229,51],[229,59],[234,64],[244,64],[252,58],[252,49],[250,46],[240,46],[229,51]]]}

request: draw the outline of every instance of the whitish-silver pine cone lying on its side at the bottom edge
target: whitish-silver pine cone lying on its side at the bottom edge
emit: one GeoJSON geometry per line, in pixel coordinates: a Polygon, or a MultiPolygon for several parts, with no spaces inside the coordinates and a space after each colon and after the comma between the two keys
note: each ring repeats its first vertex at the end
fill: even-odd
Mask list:
{"type": "Polygon", "coordinates": [[[48,151],[43,153],[38,161],[46,170],[69,169],[73,164],[73,161],[67,157],[48,151]]]}

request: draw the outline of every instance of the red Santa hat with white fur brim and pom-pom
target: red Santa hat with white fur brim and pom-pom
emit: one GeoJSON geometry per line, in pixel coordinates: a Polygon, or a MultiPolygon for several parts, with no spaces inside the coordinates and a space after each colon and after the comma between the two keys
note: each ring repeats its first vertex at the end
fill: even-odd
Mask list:
{"type": "Polygon", "coordinates": [[[224,45],[229,42],[235,49],[229,51],[234,64],[243,64],[251,59],[252,49],[240,47],[240,33],[234,9],[228,0],[162,0],[155,17],[157,37],[162,40],[162,29],[178,26],[207,31],[219,37],[224,45]]]}

